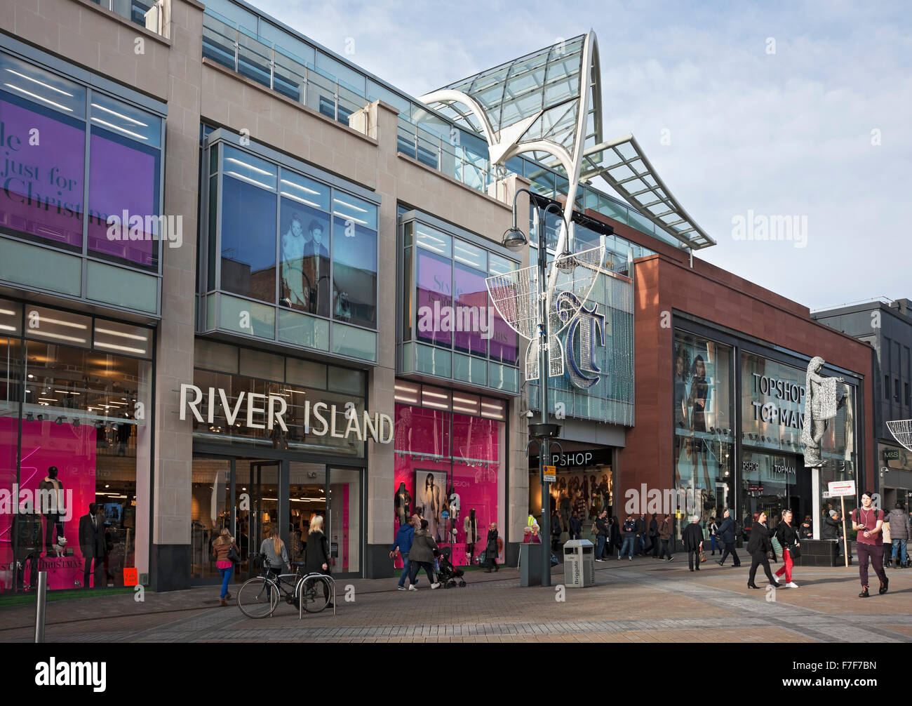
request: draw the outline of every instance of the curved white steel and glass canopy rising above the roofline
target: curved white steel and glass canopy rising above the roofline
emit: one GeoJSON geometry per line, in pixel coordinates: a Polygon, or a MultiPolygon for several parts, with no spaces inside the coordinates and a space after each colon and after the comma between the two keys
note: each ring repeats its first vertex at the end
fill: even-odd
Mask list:
{"type": "MultiPolygon", "coordinates": [[[[563,168],[569,182],[568,222],[579,182],[598,176],[684,246],[698,250],[715,244],[668,192],[632,134],[603,140],[601,68],[592,30],[431,91],[421,100],[482,134],[494,164],[532,152],[536,161],[563,168]]],[[[561,234],[558,252],[564,238],[561,234]]]]}

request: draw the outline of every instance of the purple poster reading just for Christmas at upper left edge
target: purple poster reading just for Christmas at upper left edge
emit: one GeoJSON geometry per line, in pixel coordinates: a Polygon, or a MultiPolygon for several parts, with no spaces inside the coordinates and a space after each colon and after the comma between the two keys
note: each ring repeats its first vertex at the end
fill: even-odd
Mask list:
{"type": "Polygon", "coordinates": [[[82,246],[85,130],[0,100],[0,225],[82,246]]]}

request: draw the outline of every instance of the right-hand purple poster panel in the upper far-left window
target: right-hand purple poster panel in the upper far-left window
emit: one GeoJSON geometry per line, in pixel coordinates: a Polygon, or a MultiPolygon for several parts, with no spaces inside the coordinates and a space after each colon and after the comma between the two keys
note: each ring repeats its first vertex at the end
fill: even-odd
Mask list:
{"type": "Polygon", "coordinates": [[[149,152],[109,140],[94,130],[90,142],[88,249],[137,265],[155,265],[159,252],[156,238],[161,235],[158,160],[149,152]],[[119,223],[119,228],[109,228],[109,216],[117,218],[113,223],[119,223]]]}

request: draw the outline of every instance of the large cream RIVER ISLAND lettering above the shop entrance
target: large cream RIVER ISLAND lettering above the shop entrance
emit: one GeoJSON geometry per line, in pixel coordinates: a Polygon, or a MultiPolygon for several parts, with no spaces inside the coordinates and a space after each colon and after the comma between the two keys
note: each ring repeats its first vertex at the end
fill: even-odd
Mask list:
{"type": "MultiPolygon", "coordinates": [[[[203,394],[202,389],[196,385],[181,384],[181,420],[187,419],[187,410],[189,409],[193,417],[202,423],[214,423],[215,410],[221,404],[222,415],[228,422],[228,426],[234,426],[235,422],[243,423],[247,429],[264,429],[273,430],[278,427],[282,431],[288,431],[285,425],[285,412],[288,410],[288,402],[284,395],[261,394],[257,392],[242,391],[237,396],[237,400],[232,405],[230,395],[222,388],[209,388],[208,394],[203,394]],[[200,409],[202,407],[202,410],[200,409]],[[244,410],[242,412],[242,410],[244,410]]],[[[307,400],[304,405],[303,420],[305,433],[316,436],[329,436],[337,439],[347,439],[354,435],[358,441],[367,441],[368,437],[378,443],[389,443],[393,440],[393,420],[389,414],[374,413],[373,415],[365,411],[360,418],[354,409],[353,404],[344,405],[342,410],[338,410],[335,404],[326,404],[326,402],[316,402],[311,405],[307,400]],[[342,416],[343,424],[337,424],[337,418],[342,416]],[[313,417],[313,426],[311,426],[311,417],[313,417]]]]}

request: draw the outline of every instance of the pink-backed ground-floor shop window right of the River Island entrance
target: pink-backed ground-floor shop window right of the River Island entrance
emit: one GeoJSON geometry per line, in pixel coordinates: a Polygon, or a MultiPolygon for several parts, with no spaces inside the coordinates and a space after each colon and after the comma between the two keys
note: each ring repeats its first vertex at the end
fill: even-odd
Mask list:
{"type": "Polygon", "coordinates": [[[420,512],[453,564],[477,564],[491,523],[503,539],[506,403],[404,380],[396,400],[392,536],[420,512]]]}

